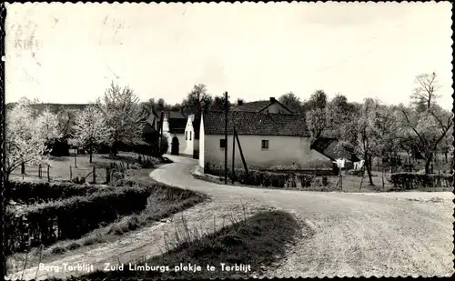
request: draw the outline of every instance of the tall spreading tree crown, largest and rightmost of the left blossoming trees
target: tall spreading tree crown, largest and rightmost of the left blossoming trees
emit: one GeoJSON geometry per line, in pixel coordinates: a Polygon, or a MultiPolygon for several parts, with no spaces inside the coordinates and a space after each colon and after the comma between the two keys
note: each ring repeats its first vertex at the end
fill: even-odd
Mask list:
{"type": "Polygon", "coordinates": [[[108,143],[116,153],[118,143],[134,144],[141,140],[147,114],[139,105],[139,98],[129,87],[111,83],[96,105],[105,115],[110,134],[108,143]]]}

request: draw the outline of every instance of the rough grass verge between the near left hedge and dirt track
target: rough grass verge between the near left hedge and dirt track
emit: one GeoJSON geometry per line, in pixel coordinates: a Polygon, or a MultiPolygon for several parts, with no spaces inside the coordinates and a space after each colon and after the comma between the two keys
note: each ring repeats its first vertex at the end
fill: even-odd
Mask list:
{"type": "MultiPolygon", "coordinates": [[[[153,168],[127,170],[126,179],[135,181],[142,186],[156,185],[157,182],[149,177],[153,168]]],[[[121,188],[121,186],[119,186],[121,188]]],[[[116,241],[120,236],[139,230],[140,228],[153,226],[160,220],[181,212],[189,207],[196,206],[208,199],[204,194],[181,189],[182,193],[176,194],[166,189],[157,189],[147,199],[147,207],[136,214],[122,216],[109,225],[104,225],[86,234],[79,239],[59,241],[52,246],[35,247],[27,253],[15,253],[6,257],[7,272],[17,272],[27,266],[35,266],[39,262],[49,262],[65,256],[71,252],[84,253],[86,250],[95,248],[98,244],[116,241]]]]}

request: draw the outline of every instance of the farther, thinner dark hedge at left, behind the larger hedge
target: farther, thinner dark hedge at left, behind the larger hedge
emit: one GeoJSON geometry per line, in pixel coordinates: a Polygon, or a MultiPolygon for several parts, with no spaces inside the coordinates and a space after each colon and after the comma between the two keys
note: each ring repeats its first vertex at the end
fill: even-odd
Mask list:
{"type": "MultiPolygon", "coordinates": [[[[4,196],[6,200],[23,201],[33,204],[40,201],[52,201],[72,196],[87,196],[96,191],[108,189],[101,186],[82,186],[72,182],[19,182],[5,183],[4,196]]],[[[112,188],[111,188],[112,189],[112,188]]]]}

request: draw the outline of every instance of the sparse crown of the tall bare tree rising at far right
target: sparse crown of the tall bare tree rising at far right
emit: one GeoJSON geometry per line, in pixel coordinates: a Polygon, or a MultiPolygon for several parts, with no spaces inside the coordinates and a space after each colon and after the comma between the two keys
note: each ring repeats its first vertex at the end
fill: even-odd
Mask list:
{"type": "Polygon", "coordinates": [[[410,98],[415,104],[424,105],[426,109],[429,109],[439,97],[436,94],[440,89],[436,73],[417,75],[415,83],[417,87],[414,88],[414,92],[410,95],[410,98]]]}

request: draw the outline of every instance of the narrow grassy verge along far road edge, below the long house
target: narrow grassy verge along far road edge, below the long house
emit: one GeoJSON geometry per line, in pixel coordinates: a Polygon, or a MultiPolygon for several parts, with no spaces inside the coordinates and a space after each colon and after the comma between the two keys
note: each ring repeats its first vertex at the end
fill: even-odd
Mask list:
{"type": "MultiPolygon", "coordinates": [[[[382,186],[382,177],[380,174],[372,176],[373,184],[375,186],[369,186],[369,177],[365,176],[363,182],[361,176],[345,175],[343,176],[342,188],[337,186],[339,181],[338,176],[328,176],[328,186],[309,186],[309,187],[274,187],[274,186],[250,186],[243,185],[238,182],[232,183],[230,178],[227,180],[227,184],[230,186],[246,186],[252,188],[266,188],[266,189],[284,189],[284,190],[301,190],[301,191],[320,191],[320,192],[345,192],[345,193],[377,193],[377,192],[407,192],[407,191],[423,191],[423,192],[441,192],[441,191],[453,191],[452,187],[419,187],[410,190],[401,190],[389,183],[388,176],[384,176],[384,186],[382,186]],[[360,188],[361,183],[361,188],[360,188]]],[[[193,174],[193,176],[199,180],[206,182],[224,185],[224,176],[200,176],[193,174]]]]}

